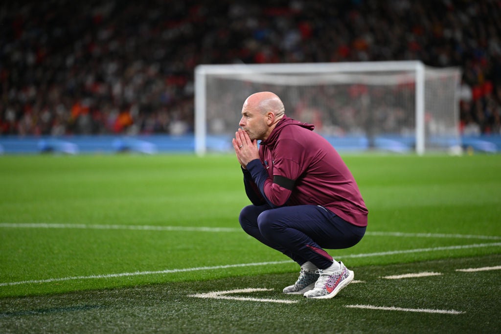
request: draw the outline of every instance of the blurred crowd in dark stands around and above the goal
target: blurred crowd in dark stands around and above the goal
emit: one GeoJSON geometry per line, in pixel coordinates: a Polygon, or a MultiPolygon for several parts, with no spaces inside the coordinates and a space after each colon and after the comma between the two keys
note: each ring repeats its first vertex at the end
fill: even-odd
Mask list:
{"type": "Polygon", "coordinates": [[[501,1],[0,5],[0,135],[183,134],[198,64],[460,67],[461,131],[501,132],[501,1]]]}

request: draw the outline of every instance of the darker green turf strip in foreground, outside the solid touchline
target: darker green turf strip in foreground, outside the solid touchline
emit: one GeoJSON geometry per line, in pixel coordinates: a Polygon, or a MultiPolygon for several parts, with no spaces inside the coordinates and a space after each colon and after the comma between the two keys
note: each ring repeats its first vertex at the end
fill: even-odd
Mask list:
{"type": "Polygon", "coordinates": [[[148,284],[0,301],[3,332],[186,332],[444,333],[501,330],[498,272],[465,273],[457,268],[496,265],[499,254],[392,265],[354,267],[364,283],[352,283],[335,298],[306,299],[281,290],[296,274],[264,274],[208,281],[148,284]],[[388,280],[382,273],[441,272],[440,276],[388,280]],[[266,287],[233,294],[295,300],[297,303],[190,297],[197,292],[266,287]],[[347,308],[346,305],[445,309],[461,314],[347,308]],[[493,316],[494,315],[494,316],[493,316]]]}

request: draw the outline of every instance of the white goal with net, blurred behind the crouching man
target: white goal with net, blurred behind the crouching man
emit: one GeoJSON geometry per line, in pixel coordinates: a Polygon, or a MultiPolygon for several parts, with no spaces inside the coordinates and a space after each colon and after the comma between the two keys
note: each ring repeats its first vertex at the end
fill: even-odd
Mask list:
{"type": "Polygon", "coordinates": [[[287,116],[313,123],[338,150],[457,149],[460,75],[419,61],[199,65],[195,152],[231,150],[242,104],[260,91],[276,93],[287,116]]]}

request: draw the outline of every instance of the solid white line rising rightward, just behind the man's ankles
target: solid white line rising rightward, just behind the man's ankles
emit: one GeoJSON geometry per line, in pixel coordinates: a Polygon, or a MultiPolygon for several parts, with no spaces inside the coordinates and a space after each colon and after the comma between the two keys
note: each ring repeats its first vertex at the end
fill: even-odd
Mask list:
{"type": "MultiPolygon", "coordinates": [[[[428,251],[467,249],[467,248],[479,248],[479,247],[499,247],[499,246],[501,246],[501,242],[461,245],[461,246],[448,246],[448,247],[435,247],[435,248],[394,250],[394,251],[388,251],[388,252],[352,254],[352,255],[338,256],[338,257],[339,258],[371,257],[371,256],[384,256],[384,255],[395,255],[395,254],[406,254],[406,253],[417,253],[417,252],[428,252],[428,251]]],[[[169,273],[186,272],[186,271],[215,270],[215,269],[225,269],[225,268],[234,268],[234,267],[249,267],[249,266],[260,266],[260,265],[271,265],[271,264],[284,264],[284,263],[291,263],[291,262],[293,262],[293,261],[286,260],[286,261],[271,261],[271,262],[257,262],[257,263],[238,263],[238,264],[216,265],[216,266],[210,266],[210,267],[194,267],[194,268],[183,268],[183,269],[166,269],[166,270],[158,270],[158,271],[136,271],[136,272],[122,272],[122,273],[116,273],[116,274],[47,278],[47,279],[40,279],[40,280],[4,282],[4,283],[0,283],[0,286],[61,282],[61,281],[76,280],[76,279],[96,279],[96,278],[129,277],[129,276],[139,276],[139,275],[169,274],[169,273]]]]}

